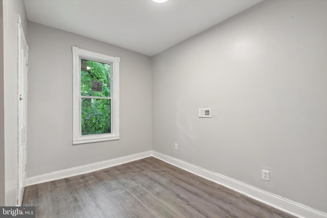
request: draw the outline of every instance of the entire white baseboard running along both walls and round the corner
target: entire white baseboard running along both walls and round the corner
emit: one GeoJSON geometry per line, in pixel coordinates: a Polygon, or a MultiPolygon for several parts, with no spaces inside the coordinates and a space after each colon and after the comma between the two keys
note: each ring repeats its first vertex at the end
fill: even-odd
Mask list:
{"type": "Polygon", "coordinates": [[[292,215],[303,217],[303,218],[327,218],[327,213],[318,211],[316,209],[310,208],[308,206],[302,205],[300,203],[291,201],[289,199],[283,198],[281,196],[274,195],[273,193],[261,190],[259,188],[247,185],[243,182],[231,179],[229,177],[223,176],[221,174],[208,171],[207,169],[201,168],[199,166],[193,165],[191,163],[179,160],[177,158],[161,154],[155,151],[147,151],[138,154],[128,155],[120,158],[110,159],[106,161],[101,161],[97,163],[91,163],[87,165],[77,166],[73,168],[64,169],[62,171],[56,171],[48,174],[43,174],[35,177],[30,177],[26,181],[26,185],[34,185],[42,182],[49,182],[53,180],[58,180],[62,178],[77,176],[80,174],[90,173],[98,171],[99,169],[107,168],[110,166],[115,166],[134,160],[143,159],[146,157],[153,156],[169,164],[177,166],[185,171],[203,177],[205,179],[211,180],[215,183],[221,184],[227,188],[235,190],[242,193],[250,198],[260,201],[264,204],[277,208],[279,210],[285,211],[292,215]]]}

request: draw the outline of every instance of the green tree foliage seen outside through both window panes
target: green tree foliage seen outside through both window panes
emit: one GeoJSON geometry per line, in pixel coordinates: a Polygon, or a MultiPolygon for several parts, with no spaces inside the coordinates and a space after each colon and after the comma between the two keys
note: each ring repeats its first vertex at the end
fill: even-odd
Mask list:
{"type": "Polygon", "coordinates": [[[81,70],[81,96],[82,135],[111,133],[110,64],[87,60],[87,69],[81,70]]]}

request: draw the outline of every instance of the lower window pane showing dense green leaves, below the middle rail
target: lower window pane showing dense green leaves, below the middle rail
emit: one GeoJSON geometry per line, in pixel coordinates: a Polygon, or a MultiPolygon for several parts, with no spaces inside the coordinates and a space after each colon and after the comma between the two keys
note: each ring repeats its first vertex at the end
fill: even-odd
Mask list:
{"type": "Polygon", "coordinates": [[[82,98],[82,135],[111,133],[110,101],[82,98]]]}

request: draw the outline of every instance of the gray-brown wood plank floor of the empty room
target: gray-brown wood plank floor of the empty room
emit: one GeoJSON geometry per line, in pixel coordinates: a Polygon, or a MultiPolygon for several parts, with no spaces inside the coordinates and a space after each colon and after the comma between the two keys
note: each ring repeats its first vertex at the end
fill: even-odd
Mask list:
{"type": "Polygon", "coordinates": [[[28,186],[36,217],[294,217],[156,158],[28,186]]]}

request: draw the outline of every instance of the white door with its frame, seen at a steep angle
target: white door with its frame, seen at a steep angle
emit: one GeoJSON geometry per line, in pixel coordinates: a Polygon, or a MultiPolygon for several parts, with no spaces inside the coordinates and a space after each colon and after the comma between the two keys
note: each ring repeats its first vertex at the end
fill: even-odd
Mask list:
{"type": "Polygon", "coordinates": [[[18,17],[18,196],[17,205],[21,205],[26,186],[26,123],[27,123],[27,69],[28,45],[18,17]]]}

